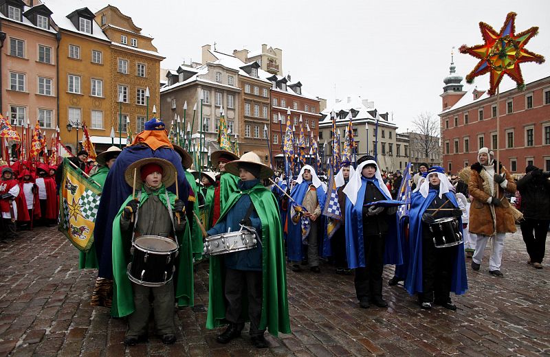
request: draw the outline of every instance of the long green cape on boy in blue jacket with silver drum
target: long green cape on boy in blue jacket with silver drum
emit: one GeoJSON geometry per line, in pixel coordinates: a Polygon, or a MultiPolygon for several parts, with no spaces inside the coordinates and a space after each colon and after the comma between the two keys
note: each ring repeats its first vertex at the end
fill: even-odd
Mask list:
{"type": "MultiPolygon", "coordinates": [[[[228,176],[228,175],[222,175],[228,176]]],[[[230,175],[233,176],[233,175],[230,175]]],[[[287,277],[283,231],[275,196],[258,183],[252,189],[230,194],[227,205],[221,212],[220,219],[227,214],[242,194],[248,194],[262,222],[262,314],[260,329],[265,329],[274,336],[278,332],[290,333],[288,314],[287,277]]],[[[225,297],[223,295],[223,278],[225,268],[220,255],[210,257],[209,303],[206,317],[206,328],[212,329],[227,323],[225,321],[225,297]]],[[[243,307],[243,312],[248,308],[243,307]]]]}

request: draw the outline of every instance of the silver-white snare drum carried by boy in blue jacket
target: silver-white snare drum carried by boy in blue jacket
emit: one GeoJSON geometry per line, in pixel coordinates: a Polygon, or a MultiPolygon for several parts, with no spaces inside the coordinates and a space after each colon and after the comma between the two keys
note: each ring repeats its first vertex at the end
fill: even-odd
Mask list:
{"type": "Polygon", "coordinates": [[[256,229],[242,226],[240,231],[206,237],[203,253],[205,255],[219,255],[245,251],[246,249],[255,248],[257,243],[256,229]]]}

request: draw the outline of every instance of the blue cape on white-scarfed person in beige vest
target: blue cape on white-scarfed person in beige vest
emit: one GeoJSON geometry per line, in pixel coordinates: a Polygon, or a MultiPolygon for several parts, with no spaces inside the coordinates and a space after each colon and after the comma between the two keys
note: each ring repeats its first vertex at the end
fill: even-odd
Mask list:
{"type": "MultiPolygon", "coordinates": [[[[311,182],[307,183],[306,181],[302,181],[299,185],[296,185],[292,188],[292,192],[290,192],[290,196],[298,203],[302,203],[305,197],[305,194],[307,193],[307,189],[311,185],[311,182]]],[[[321,211],[325,208],[325,200],[327,198],[325,191],[322,188],[322,185],[318,187],[317,189],[317,200],[319,202],[319,207],[321,208],[321,211]]],[[[300,261],[303,260],[303,251],[302,251],[302,228],[300,224],[294,224],[292,220],[290,219],[292,208],[292,201],[289,201],[289,208],[287,210],[287,242],[288,242],[288,259],[293,261],[300,261]]],[[[318,223],[318,236],[322,238],[322,234],[324,234],[324,226],[321,224],[320,217],[317,218],[318,223]]],[[[318,240],[319,244],[322,244],[322,240],[318,240]]]]}

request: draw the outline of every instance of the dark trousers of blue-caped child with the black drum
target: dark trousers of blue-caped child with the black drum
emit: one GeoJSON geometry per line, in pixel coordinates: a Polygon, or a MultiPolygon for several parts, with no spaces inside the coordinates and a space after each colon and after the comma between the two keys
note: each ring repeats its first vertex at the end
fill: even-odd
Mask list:
{"type": "MultiPolygon", "coordinates": [[[[429,229],[424,229],[425,231],[429,229]]],[[[451,273],[456,246],[436,248],[431,237],[422,240],[422,290],[420,303],[450,302],[451,273]]]]}

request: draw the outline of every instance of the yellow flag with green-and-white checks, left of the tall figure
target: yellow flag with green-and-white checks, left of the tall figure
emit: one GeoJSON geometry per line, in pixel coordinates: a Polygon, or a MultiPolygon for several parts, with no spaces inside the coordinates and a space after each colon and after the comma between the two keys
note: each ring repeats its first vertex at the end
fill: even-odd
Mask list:
{"type": "Polygon", "coordinates": [[[59,188],[59,231],[80,251],[89,251],[102,187],[83,176],[68,159],[63,160],[63,181],[59,188]]]}

